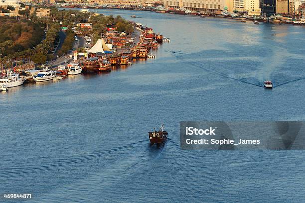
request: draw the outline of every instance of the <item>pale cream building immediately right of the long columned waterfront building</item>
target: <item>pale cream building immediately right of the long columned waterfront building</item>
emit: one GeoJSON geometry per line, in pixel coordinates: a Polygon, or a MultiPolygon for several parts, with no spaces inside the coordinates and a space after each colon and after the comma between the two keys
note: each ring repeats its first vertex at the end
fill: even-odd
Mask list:
{"type": "Polygon", "coordinates": [[[233,10],[261,15],[260,0],[233,0],[233,10]]]}

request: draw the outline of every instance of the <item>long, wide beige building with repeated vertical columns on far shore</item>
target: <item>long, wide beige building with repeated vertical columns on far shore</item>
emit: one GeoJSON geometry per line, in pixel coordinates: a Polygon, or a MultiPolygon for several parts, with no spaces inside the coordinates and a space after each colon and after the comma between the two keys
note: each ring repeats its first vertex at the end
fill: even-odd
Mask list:
{"type": "Polygon", "coordinates": [[[164,0],[163,4],[166,8],[184,7],[195,11],[222,11],[228,10],[233,12],[232,0],[164,0]]]}

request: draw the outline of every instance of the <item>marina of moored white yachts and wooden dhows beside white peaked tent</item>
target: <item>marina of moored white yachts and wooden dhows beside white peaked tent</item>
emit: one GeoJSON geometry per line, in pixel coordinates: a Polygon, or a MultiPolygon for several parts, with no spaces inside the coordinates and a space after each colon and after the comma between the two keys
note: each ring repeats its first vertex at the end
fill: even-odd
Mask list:
{"type": "MultiPolygon", "coordinates": [[[[42,70],[23,70],[19,73],[11,73],[10,69],[7,70],[7,74],[2,72],[0,83],[3,85],[3,90],[22,85],[26,82],[44,82],[49,80],[58,81],[64,79],[67,75],[78,75],[84,73],[96,73],[96,72],[111,72],[112,66],[127,66],[132,65],[133,61],[139,58],[155,58],[154,54],[148,54],[151,49],[157,49],[158,41],[162,43],[163,37],[160,34],[155,35],[152,28],[142,26],[142,24],[136,25],[136,28],[140,31],[137,36],[138,43],[135,43],[133,47],[121,48],[119,51],[114,52],[106,45],[112,40],[116,45],[120,40],[130,40],[126,37],[121,37],[120,34],[111,35],[107,38],[98,39],[97,42],[87,51],[88,58],[84,60],[74,60],[74,63],[67,65],[59,65],[55,67],[56,71],[52,68],[46,67],[42,70]],[[158,40],[158,41],[156,41],[158,40]],[[108,55],[107,55],[108,54],[108,55]],[[19,74],[22,74],[22,78],[19,78],[19,74]],[[7,81],[9,80],[9,81],[7,81]]],[[[86,37],[85,37],[86,38],[86,37]]],[[[166,39],[166,38],[165,38],[166,39]]],[[[88,41],[88,38],[86,39],[88,41]]],[[[91,40],[90,40],[91,41],[91,40]]],[[[84,53],[74,52],[74,55],[84,53]]],[[[66,63],[66,61],[65,61],[66,63]]]]}

